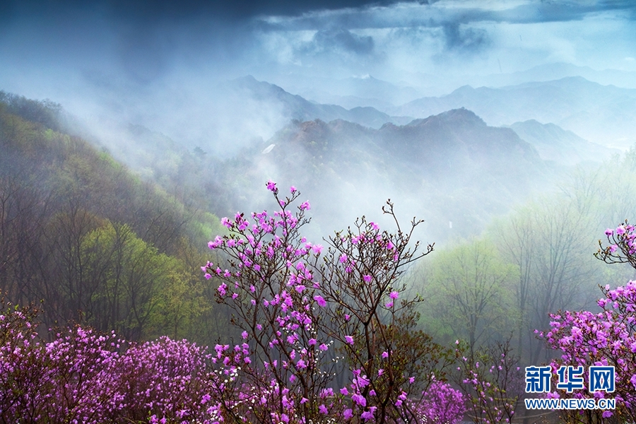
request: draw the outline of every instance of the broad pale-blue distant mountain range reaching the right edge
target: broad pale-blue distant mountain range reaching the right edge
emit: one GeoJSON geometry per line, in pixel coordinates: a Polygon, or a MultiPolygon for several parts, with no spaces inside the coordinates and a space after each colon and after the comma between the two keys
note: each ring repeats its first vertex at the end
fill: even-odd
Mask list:
{"type": "Polygon", "coordinates": [[[449,95],[413,100],[389,113],[428,117],[458,107],[473,110],[495,126],[536,119],[603,146],[625,148],[636,141],[636,90],[601,86],[582,77],[503,88],[464,86],[449,95]]]}

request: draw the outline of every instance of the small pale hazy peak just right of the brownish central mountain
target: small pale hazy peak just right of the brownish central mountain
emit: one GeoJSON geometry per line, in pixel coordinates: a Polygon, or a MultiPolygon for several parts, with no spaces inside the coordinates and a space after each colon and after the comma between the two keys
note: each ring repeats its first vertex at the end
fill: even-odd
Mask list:
{"type": "Polygon", "coordinates": [[[515,122],[510,126],[519,137],[531,143],[543,160],[563,165],[601,162],[620,153],[618,149],[591,143],[555,124],[541,124],[534,119],[515,122]]]}

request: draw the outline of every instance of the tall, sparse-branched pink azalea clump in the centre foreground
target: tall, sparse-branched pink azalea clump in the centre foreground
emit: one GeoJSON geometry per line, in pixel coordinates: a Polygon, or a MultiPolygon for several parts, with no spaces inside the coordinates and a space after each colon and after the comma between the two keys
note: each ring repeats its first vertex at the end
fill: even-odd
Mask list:
{"type": "MultiPolygon", "coordinates": [[[[408,247],[421,221],[408,232],[396,221],[389,233],[363,217],[325,247],[300,235],[311,207],[305,201],[293,212],[300,192],[291,187],[283,198],[276,183],[266,187],[281,209],[223,218],[229,235],[209,247],[228,262],[201,267],[220,281],[217,300],[231,308],[241,337],[215,348],[218,413],[250,423],[421,420],[436,399],[423,394],[449,363],[415,330],[418,298],[405,298],[399,282],[404,266],[432,251],[408,247]]],[[[383,210],[395,219],[392,204],[383,210]]],[[[436,396],[458,399],[452,390],[436,396]]]]}

